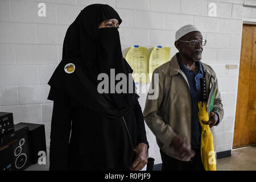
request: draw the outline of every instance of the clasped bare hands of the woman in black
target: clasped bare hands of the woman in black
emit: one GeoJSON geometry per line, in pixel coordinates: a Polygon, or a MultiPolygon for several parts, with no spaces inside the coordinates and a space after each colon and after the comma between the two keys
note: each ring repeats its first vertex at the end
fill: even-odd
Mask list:
{"type": "Polygon", "coordinates": [[[136,148],[134,149],[136,158],[131,164],[130,170],[131,171],[138,171],[144,168],[147,164],[147,144],[139,143],[136,148]]]}

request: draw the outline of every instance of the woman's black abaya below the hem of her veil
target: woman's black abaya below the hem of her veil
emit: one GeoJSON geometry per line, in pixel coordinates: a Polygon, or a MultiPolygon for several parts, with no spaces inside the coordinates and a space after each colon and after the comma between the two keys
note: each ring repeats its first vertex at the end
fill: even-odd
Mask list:
{"type": "MultiPolygon", "coordinates": [[[[127,170],[131,167],[134,152],[121,118],[108,118],[86,107],[72,106],[70,98],[60,90],[51,90],[51,94],[56,96],[49,170],[127,170]]],[[[125,120],[133,145],[148,144],[138,101],[125,115],[125,120]]]]}

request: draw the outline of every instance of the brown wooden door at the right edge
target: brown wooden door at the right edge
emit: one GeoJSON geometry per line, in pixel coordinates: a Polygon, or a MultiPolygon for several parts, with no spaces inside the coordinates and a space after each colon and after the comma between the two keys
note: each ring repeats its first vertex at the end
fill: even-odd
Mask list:
{"type": "Polygon", "coordinates": [[[256,143],[256,26],[243,24],[233,147],[256,143]]]}

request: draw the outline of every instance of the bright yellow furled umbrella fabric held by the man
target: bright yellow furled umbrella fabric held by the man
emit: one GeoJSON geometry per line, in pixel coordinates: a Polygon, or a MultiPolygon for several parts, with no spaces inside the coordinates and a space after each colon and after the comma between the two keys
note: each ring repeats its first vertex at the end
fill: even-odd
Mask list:
{"type": "Polygon", "coordinates": [[[201,121],[209,121],[207,106],[205,102],[198,103],[198,118],[202,128],[201,131],[201,159],[205,171],[216,171],[216,158],[213,146],[213,137],[209,125],[204,125],[201,121]]]}

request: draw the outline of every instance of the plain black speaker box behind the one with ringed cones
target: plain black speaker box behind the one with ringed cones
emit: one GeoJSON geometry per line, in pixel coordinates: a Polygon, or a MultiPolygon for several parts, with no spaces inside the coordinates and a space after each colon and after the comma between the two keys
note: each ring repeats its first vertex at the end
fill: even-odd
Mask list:
{"type": "MultiPolygon", "coordinates": [[[[28,143],[30,146],[31,162],[38,163],[39,151],[46,152],[46,133],[44,125],[35,123],[19,123],[19,125],[28,126],[28,143]]],[[[46,152],[47,155],[47,152],[46,152]]]]}

